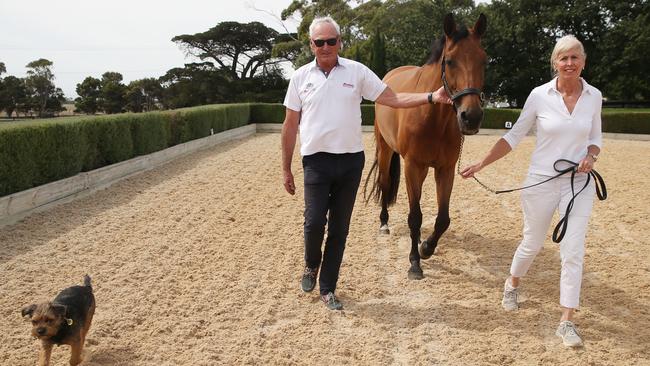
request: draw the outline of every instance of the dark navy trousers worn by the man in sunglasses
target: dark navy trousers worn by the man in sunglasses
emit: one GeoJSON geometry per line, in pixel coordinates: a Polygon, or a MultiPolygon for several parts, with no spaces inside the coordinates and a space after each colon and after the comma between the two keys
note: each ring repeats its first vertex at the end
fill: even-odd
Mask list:
{"type": "Polygon", "coordinates": [[[336,290],[364,163],[363,151],[347,154],[319,152],[302,158],[305,265],[321,267],[319,286],[322,295],[336,290]],[[325,226],[327,239],[325,250],[321,252],[325,226]]]}

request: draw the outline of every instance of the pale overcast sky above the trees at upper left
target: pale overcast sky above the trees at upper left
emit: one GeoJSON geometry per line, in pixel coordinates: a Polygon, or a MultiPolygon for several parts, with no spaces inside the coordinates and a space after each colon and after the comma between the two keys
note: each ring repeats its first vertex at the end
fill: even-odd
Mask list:
{"type": "Polygon", "coordinates": [[[187,58],[174,36],[207,31],[223,21],[259,21],[295,32],[297,19],[280,21],[291,0],[0,0],[0,62],[25,77],[28,63],[54,63],[54,84],[68,98],[87,76],[107,71],[124,83],[158,78],[187,58]],[[259,9],[259,10],[256,10],[259,9]],[[260,11],[261,10],[261,11],[260,11]]]}

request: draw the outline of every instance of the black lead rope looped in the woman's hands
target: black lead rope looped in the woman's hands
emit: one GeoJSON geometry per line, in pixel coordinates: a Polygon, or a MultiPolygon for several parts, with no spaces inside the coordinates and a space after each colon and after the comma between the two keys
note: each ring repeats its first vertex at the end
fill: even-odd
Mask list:
{"type": "MultiPolygon", "coordinates": [[[[460,135],[460,151],[458,153],[458,168],[457,168],[457,172],[458,172],[459,175],[460,175],[460,161],[461,161],[460,158],[461,158],[461,156],[463,154],[463,143],[464,142],[465,142],[465,136],[461,134],[460,135]]],[[[558,160],[555,161],[555,163],[553,163],[553,169],[557,172],[556,175],[554,175],[554,176],[552,176],[552,177],[550,177],[548,179],[545,179],[545,180],[543,180],[541,182],[537,182],[535,184],[531,184],[531,185],[528,185],[528,186],[525,186],[525,187],[519,187],[519,188],[513,188],[513,189],[505,189],[505,190],[500,190],[500,191],[497,191],[497,190],[494,190],[494,189],[488,187],[483,182],[478,180],[478,178],[476,178],[475,176],[472,176],[472,178],[474,178],[474,180],[481,187],[483,187],[485,190],[487,190],[488,192],[491,192],[491,193],[494,193],[494,194],[501,194],[501,193],[509,193],[509,192],[521,191],[523,189],[535,187],[535,186],[546,183],[546,182],[548,182],[550,180],[556,179],[556,178],[570,172],[571,173],[571,194],[572,194],[572,197],[571,197],[571,200],[569,200],[569,203],[567,204],[567,208],[566,208],[566,212],[564,213],[564,217],[562,217],[560,219],[560,221],[557,223],[557,225],[553,229],[553,242],[559,243],[564,238],[564,234],[566,234],[566,230],[567,230],[567,227],[569,225],[569,213],[573,209],[573,202],[575,201],[576,197],[578,197],[578,195],[582,191],[584,191],[585,188],[587,188],[587,186],[591,182],[592,177],[594,178],[594,184],[596,185],[596,195],[598,196],[598,199],[601,200],[601,201],[604,201],[605,199],[607,199],[607,186],[605,185],[605,180],[603,179],[603,177],[600,174],[598,174],[598,172],[595,169],[592,169],[589,173],[587,173],[587,181],[585,182],[585,185],[576,193],[573,183],[574,183],[575,175],[576,175],[577,170],[578,170],[577,169],[578,165],[579,165],[578,163],[575,163],[575,162],[573,162],[571,160],[558,159],[558,160]],[[568,164],[569,167],[567,167],[565,169],[559,169],[558,164],[563,164],[563,163],[568,164]]]]}

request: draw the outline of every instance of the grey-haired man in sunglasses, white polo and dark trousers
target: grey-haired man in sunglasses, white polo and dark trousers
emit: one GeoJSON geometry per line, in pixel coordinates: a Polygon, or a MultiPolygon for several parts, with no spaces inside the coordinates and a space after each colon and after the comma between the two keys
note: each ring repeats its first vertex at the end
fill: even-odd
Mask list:
{"type": "Polygon", "coordinates": [[[361,100],[394,108],[426,103],[451,103],[441,87],[433,93],[394,93],[366,66],[338,56],[339,25],[330,17],[316,18],[309,27],[309,44],[316,59],[291,77],[284,100],[282,172],[284,188],[296,192],[291,160],[300,127],[300,154],[305,194],[305,269],[301,287],[316,286],[320,268],[320,297],[331,310],[343,305],[334,292],[343,260],[350,217],[365,162],[361,135],[361,100]],[[327,224],[325,251],[321,245],[327,224]]]}

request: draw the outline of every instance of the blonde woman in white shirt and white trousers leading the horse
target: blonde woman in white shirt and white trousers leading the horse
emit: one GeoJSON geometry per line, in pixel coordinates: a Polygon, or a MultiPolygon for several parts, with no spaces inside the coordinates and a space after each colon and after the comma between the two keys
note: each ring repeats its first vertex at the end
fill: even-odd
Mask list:
{"type": "MultiPolygon", "coordinates": [[[[580,190],[586,182],[586,173],[591,171],[598,159],[602,144],[602,95],[580,77],[586,57],[582,43],[574,36],[560,38],[551,55],[555,75],[553,80],[533,89],[514,127],[494,144],[483,160],[465,167],[461,172],[463,178],[474,176],[482,168],[505,156],[535,125],[537,141],[524,185],[556,175],[554,163],[558,159],[566,159],[578,164],[573,184],[576,192],[580,190]]],[[[556,335],[569,347],[582,345],[581,335],[572,320],[580,300],[585,234],[594,193],[595,185],[589,184],[576,197],[570,224],[560,242],[562,316],[556,335]]],[[[526,274],[541,250],[554,211],[558,210],[563,217],[572,197],[569,174],[522,191],[523,238],[504,285],[502,305],[506,310],[518,309],[520,278],[526,274]]]]}

